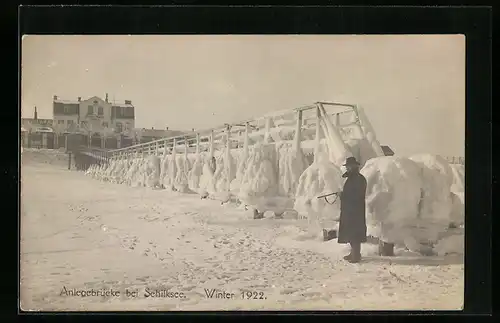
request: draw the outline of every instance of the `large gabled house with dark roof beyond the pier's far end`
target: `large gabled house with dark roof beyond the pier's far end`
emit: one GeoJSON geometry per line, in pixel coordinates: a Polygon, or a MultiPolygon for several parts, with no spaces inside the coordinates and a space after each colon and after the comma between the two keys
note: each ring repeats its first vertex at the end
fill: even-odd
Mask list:
{"type": "Polygon", "coordinates": [[[127,133],[135,127],[134,110],[132,101],[110,102],[107,94],[104,100],[62,100],[54,95],[53,127],[56,132],[127,133]]]}

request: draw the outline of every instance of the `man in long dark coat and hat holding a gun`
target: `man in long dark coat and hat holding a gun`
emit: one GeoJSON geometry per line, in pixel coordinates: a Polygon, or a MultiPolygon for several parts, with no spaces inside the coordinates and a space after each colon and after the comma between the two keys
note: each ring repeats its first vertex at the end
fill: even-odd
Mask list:
{"type": "Polygon", "coordinates": [[[366,242],[366,178],[359,173],[356,158],[347,158],[344,166],[347,172],[342,177],[347,180],[340,195],[338,243],[351,245],[351,253],[344,259],[356,263],[361,260],[361,243],[366,242]]]}

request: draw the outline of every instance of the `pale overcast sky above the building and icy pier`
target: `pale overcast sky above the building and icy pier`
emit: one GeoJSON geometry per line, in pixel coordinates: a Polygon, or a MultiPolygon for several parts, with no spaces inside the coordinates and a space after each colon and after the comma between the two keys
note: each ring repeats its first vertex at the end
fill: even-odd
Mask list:
{"type": "Polygon", "coordinates": [[[315,101],[364,107],[397,154],[464,155],[465,38],[25,36],[23,117],[52,97],[132,100],[136,127],[188,130],[315,101]]]}

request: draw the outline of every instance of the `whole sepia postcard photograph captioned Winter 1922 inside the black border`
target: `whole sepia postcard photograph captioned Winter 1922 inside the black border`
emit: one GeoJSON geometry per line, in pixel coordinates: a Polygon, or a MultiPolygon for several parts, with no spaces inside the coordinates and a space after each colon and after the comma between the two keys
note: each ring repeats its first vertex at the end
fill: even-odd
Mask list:
{"type": "Polygon", "coordinates": [[[464,35],[24,35],[24,311],[460,310],[464,35]]]}

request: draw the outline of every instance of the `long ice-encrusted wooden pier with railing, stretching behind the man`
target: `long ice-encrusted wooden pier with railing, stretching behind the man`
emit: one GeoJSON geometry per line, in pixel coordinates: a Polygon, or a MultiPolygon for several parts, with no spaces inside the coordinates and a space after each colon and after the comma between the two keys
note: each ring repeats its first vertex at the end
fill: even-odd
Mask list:
{"type": "MultiPolygon", "coordinates": [[[[337,167],[346,156],[362,163],[383,156],[362,109],[316,102],[112,150],[113,166],[103,176],[130,185],[195,192],[223,202],[237,200],[259,214],[269,210],[280,215],[294,208],[300,178],[320,152],[337,167]]],[[[325,191],[314,194],[330,193],[329,187],[321,189],[325,191]]]]}

